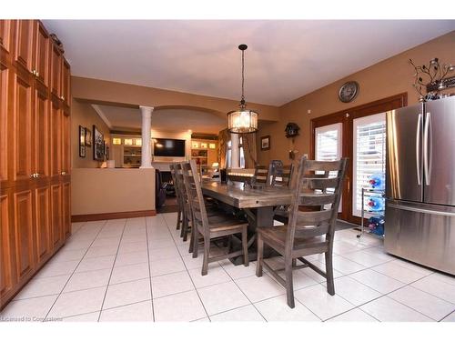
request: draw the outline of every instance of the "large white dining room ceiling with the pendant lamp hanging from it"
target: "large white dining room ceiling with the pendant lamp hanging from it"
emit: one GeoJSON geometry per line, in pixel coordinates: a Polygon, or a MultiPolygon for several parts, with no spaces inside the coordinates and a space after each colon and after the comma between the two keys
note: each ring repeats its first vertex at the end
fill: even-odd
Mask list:
{"type": "Polygon", "coordinates": [[[72,74],[283,105],[455,29],[455,20],[45,20],[72,74]]]}

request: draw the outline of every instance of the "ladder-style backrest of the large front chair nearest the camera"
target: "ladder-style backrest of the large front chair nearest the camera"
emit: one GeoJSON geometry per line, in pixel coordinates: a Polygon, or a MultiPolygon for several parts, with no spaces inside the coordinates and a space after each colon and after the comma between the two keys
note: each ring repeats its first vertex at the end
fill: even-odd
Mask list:
{"type": "Polygon", "coordinates": [[[326,235],[326,242],[329,242],[329,247],[332,246],[346,166],[347,158],[314,161],[304,156],[300,159],[289,208],[287,252],[293,249],[294,240],[298,237],[326,235]],[[334,176],[329,177],[329,174],[334,176]],[[318,210],[302,212],[300,206],[315,206],[318,210]]]}

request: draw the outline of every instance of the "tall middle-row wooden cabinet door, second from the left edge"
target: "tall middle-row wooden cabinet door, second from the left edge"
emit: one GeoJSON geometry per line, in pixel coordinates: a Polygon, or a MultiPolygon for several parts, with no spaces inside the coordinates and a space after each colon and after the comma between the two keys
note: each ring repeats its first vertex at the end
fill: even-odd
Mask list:
{"type": "Polygon", "coordinates": [[[13,78],[14,179],[24,180],[32,174],[32,87],[26,75],[13,78]]]}

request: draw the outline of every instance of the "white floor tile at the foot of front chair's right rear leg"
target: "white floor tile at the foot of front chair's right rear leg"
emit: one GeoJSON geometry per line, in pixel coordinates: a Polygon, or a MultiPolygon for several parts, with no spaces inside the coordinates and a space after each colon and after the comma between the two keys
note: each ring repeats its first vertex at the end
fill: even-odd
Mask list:
{"type": "Polygon", "coordinates": [[[297,290],[294,296],[321,320],[327,320],[354,307],[341,296],[330,296],[326,287],[321,285],[297,290]]]}

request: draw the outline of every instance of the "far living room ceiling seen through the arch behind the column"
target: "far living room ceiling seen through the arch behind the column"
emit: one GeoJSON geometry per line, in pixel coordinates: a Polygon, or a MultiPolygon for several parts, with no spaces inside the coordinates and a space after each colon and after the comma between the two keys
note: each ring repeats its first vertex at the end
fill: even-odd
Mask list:
{"type": "MultiPolygon", "coordinates": [[[[142,116],[138,108],[114,105],[93,105],[98,115],[112,130],[140,129],[142,116]]],[[[218,134],[227,121],[217,115],[197,110],[157,109],[152,113],[152,129],[158,131],[187,131],[218,134]]]]}

